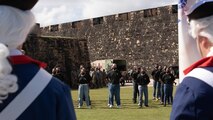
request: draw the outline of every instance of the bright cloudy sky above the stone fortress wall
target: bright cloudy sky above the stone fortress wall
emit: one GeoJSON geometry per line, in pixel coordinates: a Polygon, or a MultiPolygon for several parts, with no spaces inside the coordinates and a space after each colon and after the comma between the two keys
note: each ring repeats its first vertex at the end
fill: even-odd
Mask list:
{"type": "Polygon", "coordinates": [[[39,0],[32,11],[43,27],[177,3],[178,0],[39,0]]]}

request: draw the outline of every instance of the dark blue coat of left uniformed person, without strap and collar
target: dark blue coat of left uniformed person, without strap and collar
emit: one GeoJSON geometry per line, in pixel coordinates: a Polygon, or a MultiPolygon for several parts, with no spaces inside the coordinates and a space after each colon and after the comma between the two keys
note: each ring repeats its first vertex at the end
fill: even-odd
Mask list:
{"type": "MultiPolygon", "coordinates": [[[[19,89],[0,104],[2,111],[31,81],[40,67],[34,63],[13,65],[19,89]]],[[[50,83],[17,120],[76,120],[70,88],[57,78],[50,83]]]]}

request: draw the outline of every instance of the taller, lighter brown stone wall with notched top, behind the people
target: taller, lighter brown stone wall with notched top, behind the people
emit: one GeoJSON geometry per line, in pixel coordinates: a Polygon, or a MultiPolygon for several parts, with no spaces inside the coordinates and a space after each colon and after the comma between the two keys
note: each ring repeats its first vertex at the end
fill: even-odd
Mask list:
{"type": "Polygon", "coordinates": [[[41,28],[42,35],[88,40],[90,60],[126,59],[128,67],[178,65],[177,6],[134,11],[41,28]]]}

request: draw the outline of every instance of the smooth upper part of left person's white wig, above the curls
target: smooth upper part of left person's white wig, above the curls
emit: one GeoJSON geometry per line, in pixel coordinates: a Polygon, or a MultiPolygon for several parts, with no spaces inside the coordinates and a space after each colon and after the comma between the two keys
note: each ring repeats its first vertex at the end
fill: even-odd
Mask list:
{"type": "Polygon", "coordinates": [[[0,6],[0,43],[15,49],[24,43],[29,31],[35,24],[30,11],[22,11],[9,6],[0,6]]]}

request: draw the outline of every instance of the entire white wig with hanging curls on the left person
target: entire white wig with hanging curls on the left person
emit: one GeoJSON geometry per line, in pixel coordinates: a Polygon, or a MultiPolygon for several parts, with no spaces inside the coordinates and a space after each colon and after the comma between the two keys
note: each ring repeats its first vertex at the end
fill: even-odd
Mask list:
{"type": "Polygon", "coordinates": [[[35,20],[30,11],[2,5],[0,16],[0,103],[2,103],[9,93],[18,90],[17,77],[11,74],[12,67],[7,60],[9,49],[15,49],[24,43],[35,20]]]}

